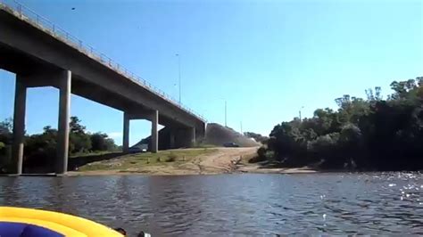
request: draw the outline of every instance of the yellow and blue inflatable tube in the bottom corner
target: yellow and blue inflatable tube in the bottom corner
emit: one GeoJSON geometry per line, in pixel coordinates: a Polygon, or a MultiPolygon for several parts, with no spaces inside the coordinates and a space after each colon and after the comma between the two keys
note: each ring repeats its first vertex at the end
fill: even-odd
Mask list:
{"type": "Polygon", "coordinates": [[[122,237],[111,228],[82,217],[32,208],[0,207],[0,236],[122,237]]]}

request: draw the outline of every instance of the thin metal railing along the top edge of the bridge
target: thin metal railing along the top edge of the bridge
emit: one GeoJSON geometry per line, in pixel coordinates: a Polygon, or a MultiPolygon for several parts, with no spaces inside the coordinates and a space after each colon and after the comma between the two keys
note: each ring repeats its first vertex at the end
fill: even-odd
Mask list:
{"type": "Polygon", "coordinates": [[[61,40],[63,43],[67,45],[71,45],[73,48],[79,50],[80,53],[86,54],[88,57],[95,59],[98,62],[101,62],[104,66],[113,69],[114,71],[120,73],[121,75],[129,78],[130,80],[136,82],[139,86],[143,86],[146,89],[153,92],[162,99],[166,100],[167,102],[172,103],[173,105],[177,106],[181,110],[187,111],[187,113],[194,115],[195,117],[206,121],[203,116],[195,113],[195,111],[187,108],[183,104],[176,102],[176,100],[170,96],[169,94],[165,94],[161,89],[153,86],[150,82],[146,81],[144,78],[137,76],[135,73],[131,72],[129,69],[121,66],[116,61],[113,61],[110,57],[105,55],[104,53],[98,52],[95,50],[94,47],[91,45],[85,44],[82,40],[78,37],[72,36],[66,30],[54,25],[54,23],[50,20],[47,20],[45,17],[40,16],[37,12],[30,10],[25,5],[15,1],[15,0],[0,0],[0,8],[4,9],[7,12],[12,13],[13,15],[19,17],[21,20],[25,20],[32,24],[33,26],[37,27],[37,29],[41,29],[61,40]]]}

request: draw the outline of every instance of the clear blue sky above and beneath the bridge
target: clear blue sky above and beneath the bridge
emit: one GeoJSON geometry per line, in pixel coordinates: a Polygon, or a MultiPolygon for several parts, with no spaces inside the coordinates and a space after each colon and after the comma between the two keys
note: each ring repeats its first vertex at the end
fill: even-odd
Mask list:
{"type": "MultiPolygon", "coordinates": [[[[284,120],[336,108],[343,94],[423,75],[422,1],[21,0],[210,122],[269,135],[284,120]],[[71,10],[75,7],[75,10],[71,10]]],[[[0,70],[0,119],[14,75],[0,70]]],[[[29,134],[57,127],[58,92],[29,89],[29,134]]],[[[121,143],[122,113],[78,96],[71,115],[121,143]]],[[[133,121],[130,143],[150,132],[133,121]]]]}

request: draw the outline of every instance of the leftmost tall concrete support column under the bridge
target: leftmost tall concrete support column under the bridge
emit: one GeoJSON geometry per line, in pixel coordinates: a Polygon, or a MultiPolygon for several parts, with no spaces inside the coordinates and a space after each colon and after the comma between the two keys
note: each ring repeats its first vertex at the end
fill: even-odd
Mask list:
{"type": "Polygon", "coordinates": [[[27,101],[27,86],[20,75],[16,76],[13,111],[13,143],[12,162],[14,162],[13,173],[22,174],[23,164],[23,140],[25,136],[25,110],[27,101]]]}

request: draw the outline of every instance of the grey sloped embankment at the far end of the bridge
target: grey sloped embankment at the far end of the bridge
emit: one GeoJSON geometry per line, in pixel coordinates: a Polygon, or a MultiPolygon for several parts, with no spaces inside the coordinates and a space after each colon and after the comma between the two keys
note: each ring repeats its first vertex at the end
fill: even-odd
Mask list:
{"type": "Polygon", "coordinates": [[[230,127],[224,127],[220,124],[207,124],[203,143],[221,146],[223,143],[236,143],[242,147],[258,146],[250,137],[236,132],[230,127]]]}

